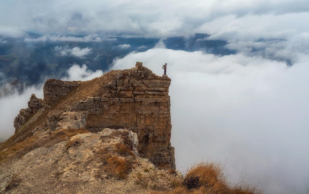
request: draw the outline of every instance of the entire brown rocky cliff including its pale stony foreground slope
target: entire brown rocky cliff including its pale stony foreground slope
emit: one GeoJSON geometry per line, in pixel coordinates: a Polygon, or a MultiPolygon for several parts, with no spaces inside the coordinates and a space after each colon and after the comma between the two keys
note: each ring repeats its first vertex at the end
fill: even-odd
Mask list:
{"type": "Polygon", "coordinates": [[[140,62],[89,81],[47,80],[43,100],[32,94],[0,145],[0,193],[171,189],[181,174],[170,143],[170,82],[140,62]]]}

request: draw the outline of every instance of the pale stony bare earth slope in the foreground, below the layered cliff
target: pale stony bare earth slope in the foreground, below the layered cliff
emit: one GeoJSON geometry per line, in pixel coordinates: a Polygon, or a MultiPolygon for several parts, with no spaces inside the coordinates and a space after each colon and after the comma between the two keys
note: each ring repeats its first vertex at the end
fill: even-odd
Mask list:
{"type": "MultiPolygon", "coordinates": [[[[59,129],[52,133],[60,136],[66,132],[59,129]]],[[[125,129],[78,133],[68,141],[3,162],[0,193],[144,194],[171,190],[181,174],[159,170],[147,158],[138,157],[137,144],[136,133],[125,129]]]]}

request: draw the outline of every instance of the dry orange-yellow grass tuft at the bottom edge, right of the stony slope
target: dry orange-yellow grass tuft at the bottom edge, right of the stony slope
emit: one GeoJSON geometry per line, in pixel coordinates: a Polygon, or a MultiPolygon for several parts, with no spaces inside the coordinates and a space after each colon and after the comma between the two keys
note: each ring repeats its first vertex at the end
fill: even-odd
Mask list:
{"type": "Polygon", "coordinates": [[[175,184],[171,192],[152,191],[150,194],[263,194],[246,184],[231,186],[223,174],[223,167],[213,162],[195,164],[182,184],[175,184]]]}

